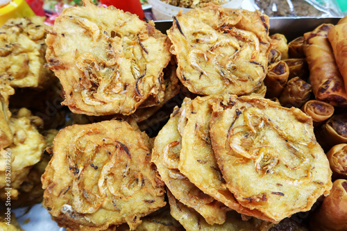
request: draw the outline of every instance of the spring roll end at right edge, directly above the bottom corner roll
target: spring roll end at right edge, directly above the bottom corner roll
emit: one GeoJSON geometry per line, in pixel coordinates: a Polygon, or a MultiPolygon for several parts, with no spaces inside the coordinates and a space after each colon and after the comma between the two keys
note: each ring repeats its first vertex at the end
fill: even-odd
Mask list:
{"type": "Polygon", "coordinates": [[[347,180],[347,144],[337,144],[326,153],[333,178],[347,180]]]}

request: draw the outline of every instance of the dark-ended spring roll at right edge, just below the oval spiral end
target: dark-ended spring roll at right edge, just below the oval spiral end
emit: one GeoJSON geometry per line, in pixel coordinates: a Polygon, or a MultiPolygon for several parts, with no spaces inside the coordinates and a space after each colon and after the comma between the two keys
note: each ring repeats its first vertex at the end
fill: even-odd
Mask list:
{"type": "Polygon", "coordinates": [[[317,130],[316,138],[326,151],[336,144],[347,143],[347,113],[330,117],[321,129],[317,130]]]}

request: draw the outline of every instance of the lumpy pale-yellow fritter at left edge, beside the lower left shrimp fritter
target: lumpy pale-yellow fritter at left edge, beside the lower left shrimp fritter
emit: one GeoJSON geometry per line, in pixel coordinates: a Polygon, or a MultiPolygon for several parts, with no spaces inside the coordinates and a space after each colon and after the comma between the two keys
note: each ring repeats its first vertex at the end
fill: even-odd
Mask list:
{"type": "Polygon", "coordinates": [[[19,187],[27,180],[28,173],[32,166],[40,162],[46,142],[44,137],[37,131],[37,126],[42,125],[39,117],[34,117],[26,108],[22,108],[17,115],[10,118],[10,129],[12,131],[12,144],[7,148],[1,148],[1,165],[0,165],[0,191],[1,198],[5,199],[3,193],[6,185],[6,163],[11,162],[10,184],[11,198],[17,199],[19,187]],[[10,158],[9,158],[10,157],[10,158]]]}

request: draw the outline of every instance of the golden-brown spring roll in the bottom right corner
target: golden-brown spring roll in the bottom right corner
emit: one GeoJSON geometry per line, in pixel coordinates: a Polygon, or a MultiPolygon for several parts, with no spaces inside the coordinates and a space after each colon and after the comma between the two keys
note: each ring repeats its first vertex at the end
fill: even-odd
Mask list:
{"type": "Polygon", "coordinates": [[[347,180],[335,180],[329,196],[312,216],[310,227],[317,231],[347,230],[347,180]]]}

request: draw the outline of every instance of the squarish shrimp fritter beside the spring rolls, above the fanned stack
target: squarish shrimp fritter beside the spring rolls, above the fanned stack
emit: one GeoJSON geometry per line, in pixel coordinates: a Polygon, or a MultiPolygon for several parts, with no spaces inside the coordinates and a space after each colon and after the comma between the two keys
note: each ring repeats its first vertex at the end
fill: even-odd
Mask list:
{"type": "Polygon", "coordinates": [[[167,35],[178,78],[194,94],[249,94],[266,76],[269,17],[259,11],[208,4],[178,13],[167,35]]]}

